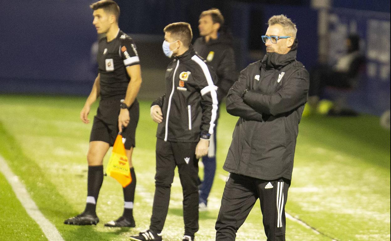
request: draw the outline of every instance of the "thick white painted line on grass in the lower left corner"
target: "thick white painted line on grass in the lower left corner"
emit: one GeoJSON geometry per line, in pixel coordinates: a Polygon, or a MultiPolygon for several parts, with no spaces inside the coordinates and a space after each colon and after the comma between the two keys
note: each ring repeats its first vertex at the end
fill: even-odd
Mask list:
{"type": "Polygon", "coordinates": [[[38,223],[43,233],[47,237],[48,241],[64,241],[56,227],[50,223],[49,220],[43,216],[42,212],[39,211],[35,202],[31,199],[25,186],[19,181],[16,176],[9,168],[7,162],[0,156],[0,171],[3,173],[5,179],[11,185],[16,197],[22,203],[22,206],[26,209],[29,216],[38,223]]]}

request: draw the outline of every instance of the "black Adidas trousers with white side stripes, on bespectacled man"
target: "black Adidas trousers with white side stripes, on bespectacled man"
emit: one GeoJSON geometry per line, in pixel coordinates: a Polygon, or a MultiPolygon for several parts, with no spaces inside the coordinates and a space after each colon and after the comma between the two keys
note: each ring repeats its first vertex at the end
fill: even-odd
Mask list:
{"type": "Polygon", "coordinates": [[[261,180],[230,173],[216,221],[216,241],[235,240],[237,230],[258,198],[267,241],[285,241],[285,204],[289,185],[287,179],[261,180]]]}

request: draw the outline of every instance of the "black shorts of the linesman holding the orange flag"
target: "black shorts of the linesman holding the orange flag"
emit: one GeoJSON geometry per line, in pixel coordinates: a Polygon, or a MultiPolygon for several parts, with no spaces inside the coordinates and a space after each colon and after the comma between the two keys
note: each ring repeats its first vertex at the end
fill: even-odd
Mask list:
{"type": "MultiPolygon", "coordinates": [[[[120,113],[120,100],[101,99],[96,116],[94,117],[90,142],[104,141],[110,146],[114,145],[115,138],[118,135],[118,115],[120,113]]],[[[125,149],[130,150],[136,146],[135,135],[140,115],[137,99],[129,107],[130,121],[126,128],[122,129],[122,137],[126,138],[125,149]]]]}

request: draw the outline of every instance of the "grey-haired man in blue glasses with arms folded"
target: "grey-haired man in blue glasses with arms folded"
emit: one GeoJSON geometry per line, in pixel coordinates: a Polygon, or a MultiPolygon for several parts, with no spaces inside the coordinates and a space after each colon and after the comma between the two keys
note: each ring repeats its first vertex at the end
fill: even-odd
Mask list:
{"type": "Polygon", "coordinates": [[[271,17],[262,36],[267,54],[242,70],[228,92],[227,111],[240,118],[224,164],[230,174],[217,241],[235,240],[258,198],[267,241],[285,241],[285,204],[309,87],[308,72],[296,61],[296,32],[286,16],[271,17]]]}

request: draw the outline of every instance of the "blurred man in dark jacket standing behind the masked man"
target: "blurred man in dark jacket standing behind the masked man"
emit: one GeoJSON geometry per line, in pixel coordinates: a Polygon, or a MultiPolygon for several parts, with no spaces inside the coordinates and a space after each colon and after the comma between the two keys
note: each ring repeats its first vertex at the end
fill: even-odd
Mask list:
{"type": "MultiPolygon", "coordinates": [[[[199,37],[194,42],[194,49],[216,71],[215,82],[219,104],[227,95],[236,80],[235,57],[231,36],[222,30],[224,17],[219,9],[203,11],[199,17],[199,37]]],[[[217,112],[217,116],[219,112],[217,112]]],[[[218,118],[218,117],[217,117],[218,118]]],[[[216,122],[217,126],[217,122],[216,122]]],[[[216,127],[210,138],[208,155],[202,158],[204,164],[204,180],[199,190],[199,210],[206,210],[208,196],[212,188],[216,172],[216,127]]]]}

